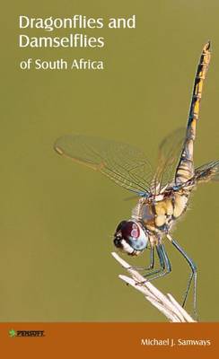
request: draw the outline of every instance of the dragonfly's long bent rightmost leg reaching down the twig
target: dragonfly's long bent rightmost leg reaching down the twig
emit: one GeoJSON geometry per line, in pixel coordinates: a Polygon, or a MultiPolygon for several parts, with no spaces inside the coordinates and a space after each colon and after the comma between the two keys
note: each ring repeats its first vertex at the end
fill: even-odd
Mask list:
{"type": "Polygon", "coordinates": [[[192,284],[192,280],[194,279],[194,298],[193,298],[193,310],[194,310],[194,314],[197,317],[197,266],[195,265],[195,263],[193,262],[192,259],[190,259],[187,255],[187,253],[185,252],[185,250],[183,250],[180,247],[180,244],[173,240],[173,238],[171,238],[171,236],[168,234],[167,238],[171,241],[171,243],[173,244],[173,246],[180,251],[180,254],[187,260],[189,267],[191,268],[191,273],[188,277],[188,285],[187,285],[187,289],[186,292],[184,294],[184,298],[182,301],[182,307],[185,306],[187,298],[188,298],[188,292],[190,289],[190,286],[192,284]]]}

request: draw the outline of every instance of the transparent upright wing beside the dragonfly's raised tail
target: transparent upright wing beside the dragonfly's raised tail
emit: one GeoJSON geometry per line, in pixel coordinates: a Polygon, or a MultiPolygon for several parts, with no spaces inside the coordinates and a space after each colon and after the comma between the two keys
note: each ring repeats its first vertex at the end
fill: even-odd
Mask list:
{"type": "Polygon", "coordinates": [[[153,192],[159,193],[163,186],[172,182],[186,136],[185,128],[178,128],[165,137],[159,146],[158,164],[153,177],[153,192]]]}

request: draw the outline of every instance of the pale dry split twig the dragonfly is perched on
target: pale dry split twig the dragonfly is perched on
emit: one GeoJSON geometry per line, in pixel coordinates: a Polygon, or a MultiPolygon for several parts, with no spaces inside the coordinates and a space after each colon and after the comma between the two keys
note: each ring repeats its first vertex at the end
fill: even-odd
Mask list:
{"type": "Polygon", "coordinates": [[[145,282],[145,277],[141,276],[136,269],[133,269],[117,253],[112,252],[112,256],[118,260],[118,263],[125,269],[130,276],[119,275],[119,278],[131,285],[137,291],[145,295],[145,299],[153,304],[165,317],[171,322],[195,322],[187,311],[185,311],[171,294],[164,295],[152,283],[145,282]],[[144,282],[144,284],[142,284],[144,282]]]}

